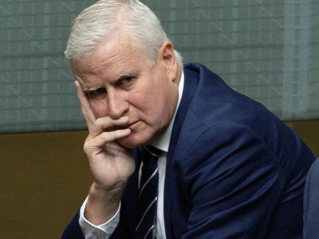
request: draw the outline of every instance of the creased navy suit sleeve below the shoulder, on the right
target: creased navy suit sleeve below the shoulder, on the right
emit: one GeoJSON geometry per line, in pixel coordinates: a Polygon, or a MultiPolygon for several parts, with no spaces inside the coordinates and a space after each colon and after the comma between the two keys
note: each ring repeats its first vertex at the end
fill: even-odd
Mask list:
{"type": "Polygon", "coordinates": [[[280,170],[249,129],[219,125],[206,130],[184,168],[192,206],[183,239],[264,238],[284,187],[280,170]]]}

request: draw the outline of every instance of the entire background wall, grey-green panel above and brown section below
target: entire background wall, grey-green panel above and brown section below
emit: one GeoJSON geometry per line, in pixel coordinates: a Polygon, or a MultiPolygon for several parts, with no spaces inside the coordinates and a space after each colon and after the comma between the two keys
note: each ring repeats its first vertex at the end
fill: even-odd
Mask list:
{"type": "MultiPolygon", "coordinates": [[[[94,2],[0,2],[3,238],[59,238],[92,182],[87,132],[62,130],[85,129],[63,51],[71,21],[94,2]]],[[[319,156],[319,1],[142,2],[184,62],[205,64],[288,120],[319,156]]]]}

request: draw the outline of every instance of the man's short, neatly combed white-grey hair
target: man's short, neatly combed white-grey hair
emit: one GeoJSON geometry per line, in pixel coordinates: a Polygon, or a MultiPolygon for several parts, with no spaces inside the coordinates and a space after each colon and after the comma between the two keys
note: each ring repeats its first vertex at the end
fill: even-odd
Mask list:
{"type": "MultiPolygon", "coordinates": [[[[138,0],[99,0],[84,9],[74,20],[69,36],[66,58],[85,60],[103,38],[120,31],[128,36],[132,45],[155,65],[158,49],[168,41],[154,12],[138,0]]],[[[182,56],[176,50],[177,62],[182,56]]]]}

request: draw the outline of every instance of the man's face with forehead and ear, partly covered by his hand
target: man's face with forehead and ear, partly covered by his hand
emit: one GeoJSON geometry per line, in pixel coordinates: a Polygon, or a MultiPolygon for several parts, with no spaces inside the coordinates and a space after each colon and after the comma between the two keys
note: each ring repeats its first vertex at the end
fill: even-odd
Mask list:
{"type": "Polygon", "coordinates": [[[72,64],[96,118],[129,117],[131,134],[118,140],[125,147],[147,144],[173,117],[179,76],[173,48],[165,44],[153,67],[127,38],[102,42],[88,60],[72,64]]]}

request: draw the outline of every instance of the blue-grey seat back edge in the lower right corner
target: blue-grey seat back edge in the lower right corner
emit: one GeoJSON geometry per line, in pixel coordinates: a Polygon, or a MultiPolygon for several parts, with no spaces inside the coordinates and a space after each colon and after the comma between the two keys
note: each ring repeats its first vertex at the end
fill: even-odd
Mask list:
{"type": "Polygon", "coordinates": [[[319,158],[311,166],[304,194],[304,239],[319,239],[319,158]]]}

